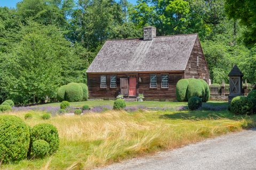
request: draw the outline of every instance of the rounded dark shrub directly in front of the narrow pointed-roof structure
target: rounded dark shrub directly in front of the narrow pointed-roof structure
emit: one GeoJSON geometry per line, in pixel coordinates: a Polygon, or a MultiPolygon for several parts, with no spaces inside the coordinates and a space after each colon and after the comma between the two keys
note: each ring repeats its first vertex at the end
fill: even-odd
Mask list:
{"type": "Polygon", "coordinates": [[[252,100],[245,96],[237,96],[231,100],[230,111],[234,114],[252,114],[252,100]]]}

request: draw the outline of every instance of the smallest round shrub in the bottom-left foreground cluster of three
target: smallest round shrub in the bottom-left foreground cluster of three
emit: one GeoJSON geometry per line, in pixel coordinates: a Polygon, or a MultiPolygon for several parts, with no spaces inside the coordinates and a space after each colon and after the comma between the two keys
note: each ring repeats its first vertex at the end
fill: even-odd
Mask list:
{"type": "Polygon", "coordinates": [[[39,139],[32,143],[31,156],[34,158],[43,158],[49,154],[50,145],[45,140],[39,139]]]}

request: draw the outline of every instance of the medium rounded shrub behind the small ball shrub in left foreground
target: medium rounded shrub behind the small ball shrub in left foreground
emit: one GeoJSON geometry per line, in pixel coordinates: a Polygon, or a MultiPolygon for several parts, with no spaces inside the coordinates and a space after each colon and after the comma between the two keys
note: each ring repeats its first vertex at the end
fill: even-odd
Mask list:
{"type": "Polygon", "coordinates": [[[30,138],[31,143],[39,139],[48,142],[50,145],[50,155],[59,149],[60,139],[58,130],[52,124],[42,123],[35,125],[31,130],[30,138]]]}

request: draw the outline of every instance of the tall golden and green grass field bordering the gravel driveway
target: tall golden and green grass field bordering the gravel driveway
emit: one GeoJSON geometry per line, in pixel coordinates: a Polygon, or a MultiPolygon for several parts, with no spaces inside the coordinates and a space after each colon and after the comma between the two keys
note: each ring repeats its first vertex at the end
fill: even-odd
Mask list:
{"type": "MultiPolygon", "coordinates": [[[[91,101],[86,103],[93,105],[91,101]]],[[[157,107],[165,104],[158,102],[157,107]]],[[[234,116],[228,111],[106,111],[83,116],[54,116],[50,120],[42,120],[42,112],[29,112],[33,118],[25,122],[30,126],[51,123],[58,128],[60,148],[51,157],[22,160],[18,164],[4,165],[3,169],[91,169],[241,131],[254,126],[256,120],[256,116],[234,116]]],[[[11,114],[24,120],[26,113],[11,114]]]]}

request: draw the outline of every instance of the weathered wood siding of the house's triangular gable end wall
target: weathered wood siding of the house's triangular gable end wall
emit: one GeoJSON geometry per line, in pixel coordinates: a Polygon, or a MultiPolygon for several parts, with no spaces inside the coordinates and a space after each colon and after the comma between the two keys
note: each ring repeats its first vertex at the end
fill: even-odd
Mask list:
{"type": "Polygon", "coordinates": [[[185,78],[204,79],[209,83],[209,69],[207,67],[203,50],[198,38],[196,38],[195,45],[190,54],[185,72],[185,78]],[[197,66],[197,56],[199,59],[199,66],[197,66]]]}

